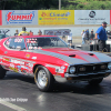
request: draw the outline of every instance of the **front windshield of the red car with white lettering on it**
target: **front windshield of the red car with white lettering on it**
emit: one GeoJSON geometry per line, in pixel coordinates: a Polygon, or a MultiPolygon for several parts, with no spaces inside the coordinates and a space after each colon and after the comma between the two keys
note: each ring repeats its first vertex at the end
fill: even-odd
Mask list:
{"type": "Polygon", "coordinates": [[[68,48],[67,43],[62,41],[59,37],[34,37],[27,38],[28,49],[47,49],[47,48],[68,48]]]}

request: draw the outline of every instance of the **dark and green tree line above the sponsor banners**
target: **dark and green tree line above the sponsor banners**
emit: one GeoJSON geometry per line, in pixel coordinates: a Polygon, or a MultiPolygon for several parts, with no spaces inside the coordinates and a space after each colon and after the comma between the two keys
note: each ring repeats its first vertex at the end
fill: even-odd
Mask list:
{"type": "MultiPolygon", "coordinates": [[[[58,10],[59,0],[0,0],[0,10],[58,10]]],[[[61,0],[61,10],[111,10],[111,0],[61,0]]]]}

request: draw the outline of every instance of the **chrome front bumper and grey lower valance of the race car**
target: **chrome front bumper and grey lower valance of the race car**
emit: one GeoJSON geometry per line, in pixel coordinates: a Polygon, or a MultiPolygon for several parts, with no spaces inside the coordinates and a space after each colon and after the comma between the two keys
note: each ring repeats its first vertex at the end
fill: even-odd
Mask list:
{"type": "Polygon", "coordinates": [[[64,73],[64,78],[62,77],[54,77],[54,79],[58,82],[74,82],[74,81],[88,81],[91,79],[99,79],[99,78],[105,78],[111,73],[111,70],[104,70],[99,72],[89,72],[89,73],[75,73],[75,74],[69,74],[64,73]]]}

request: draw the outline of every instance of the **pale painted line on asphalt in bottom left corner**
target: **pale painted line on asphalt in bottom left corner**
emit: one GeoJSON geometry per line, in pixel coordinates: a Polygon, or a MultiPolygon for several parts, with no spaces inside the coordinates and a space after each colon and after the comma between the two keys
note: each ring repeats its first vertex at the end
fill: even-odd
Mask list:
{"type": "Polygon", "coordinates": [[[23,108],[21,108],[21,107],[18,107],[18,105],[16,105],[16,104],[12,104],[12,103],[7,102],[7,101],[3,101],[3,100],[0,101],[0,104],[3,104],[3,105],[6,105],[6,107],[8,107],[8,108],[11,108],[11,109],[13,109],[13,110],[16,110],[16,111],[27,111],[26,109],[23,109],[23,108]]]}

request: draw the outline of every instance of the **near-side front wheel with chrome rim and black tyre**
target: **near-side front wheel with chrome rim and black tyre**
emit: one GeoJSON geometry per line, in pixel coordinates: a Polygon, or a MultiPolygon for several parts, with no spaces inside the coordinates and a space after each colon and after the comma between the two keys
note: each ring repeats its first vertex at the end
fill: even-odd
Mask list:
{"type": "Polygon", "coordinates": [[[36,69],[34,81],[40,91],[48,92],[52,90],[54,79],[47,68],[39,65],[36,69]]]}

